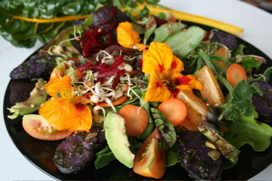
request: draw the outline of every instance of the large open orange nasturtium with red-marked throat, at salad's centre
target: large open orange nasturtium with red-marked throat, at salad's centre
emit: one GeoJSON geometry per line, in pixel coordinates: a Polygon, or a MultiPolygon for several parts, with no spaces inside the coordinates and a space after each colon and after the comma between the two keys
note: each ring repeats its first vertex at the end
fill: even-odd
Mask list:
{"type": "Polygon", "coordinates": [[[176,97],[180,90],[202,90],[203,86],[197,77],[191,74],[184,76],[182,70],[183,62],[173,55],[167,44],[151,42],[143,54],[142,71],[150,74],[144,101],[163,102],[169,97],[176,97]]]}

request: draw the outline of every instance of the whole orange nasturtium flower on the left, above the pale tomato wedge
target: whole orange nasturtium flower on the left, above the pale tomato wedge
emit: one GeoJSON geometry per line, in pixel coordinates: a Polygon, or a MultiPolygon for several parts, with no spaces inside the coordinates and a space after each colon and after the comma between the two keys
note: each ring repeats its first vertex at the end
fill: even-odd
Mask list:
{"type": "Polygon", "coordinates": [[[70,77],[66,75],[45,84],[47,92],[54,99],[47,100],[40,107],[39,113],[58,130],[89,132],[92,125],[91,110],[84,97],[73,95],[71,82],[70,77]]]}

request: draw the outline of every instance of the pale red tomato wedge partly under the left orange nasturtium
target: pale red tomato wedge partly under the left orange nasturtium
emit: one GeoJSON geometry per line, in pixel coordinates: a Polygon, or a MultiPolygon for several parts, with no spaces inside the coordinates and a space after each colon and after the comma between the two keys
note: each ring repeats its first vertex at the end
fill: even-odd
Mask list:
{"type": "Polygon", "coordinates": [[[29,114],[23,117],[22,125],[24,130],[36,139],[59,140],[67,138],[72,132],[68,130],[58,131],[51,127],[47,120],[40,115],[29,114]]]}

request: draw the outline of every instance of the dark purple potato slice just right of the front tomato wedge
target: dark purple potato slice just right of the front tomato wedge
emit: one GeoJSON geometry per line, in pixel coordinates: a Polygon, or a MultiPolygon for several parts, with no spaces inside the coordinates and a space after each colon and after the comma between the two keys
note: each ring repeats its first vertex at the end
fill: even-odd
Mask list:
{"type": "Polygon", "coordinates": [[[196,180],[218,180],[223,171],[222,157],[200,132],[181,132],[176,140],[181,166],[196,180]]]}

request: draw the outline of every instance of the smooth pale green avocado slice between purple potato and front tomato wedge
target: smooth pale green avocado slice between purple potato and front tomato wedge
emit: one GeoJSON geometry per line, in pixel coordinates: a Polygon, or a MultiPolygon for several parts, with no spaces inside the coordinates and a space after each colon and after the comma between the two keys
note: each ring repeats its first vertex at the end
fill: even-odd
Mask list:
{"type": "Polygon", "coordinates": [[[117,113],[109,111],[105,119],[105,137],[110,150],[122,164],[133,168],[135,155],[130,151],[126,136],[125,120],[117,113]]]}

